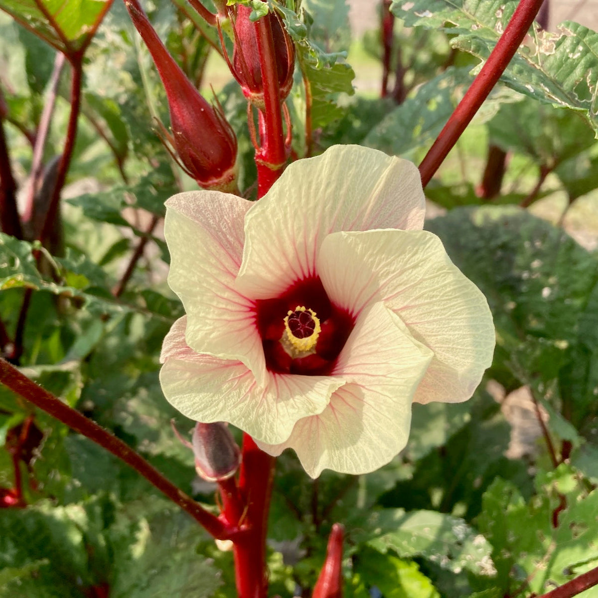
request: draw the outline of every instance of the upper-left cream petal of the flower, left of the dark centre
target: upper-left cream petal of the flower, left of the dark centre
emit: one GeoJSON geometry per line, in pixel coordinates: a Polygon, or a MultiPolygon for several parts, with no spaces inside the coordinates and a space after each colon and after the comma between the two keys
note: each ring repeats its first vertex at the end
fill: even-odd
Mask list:
{"type": "Polygon", "coordinates": [[[234,289],[251,202],[218,191],[190,191],[166,202],[168,283],[187,313],[187,343],[198,353],[243,362],[266,376],[254,303],[234,289]]]}

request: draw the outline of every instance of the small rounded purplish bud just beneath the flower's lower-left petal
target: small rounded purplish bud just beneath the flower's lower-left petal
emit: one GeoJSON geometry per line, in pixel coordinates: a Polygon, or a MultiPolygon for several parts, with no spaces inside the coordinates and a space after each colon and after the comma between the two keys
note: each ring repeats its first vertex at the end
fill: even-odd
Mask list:
{"type": "Polygon", "coordinates": [[[210,482],[228,480],[239,469],[241,451],[225,423],[197,422],[191,440],[200,478],[210,482]]]}

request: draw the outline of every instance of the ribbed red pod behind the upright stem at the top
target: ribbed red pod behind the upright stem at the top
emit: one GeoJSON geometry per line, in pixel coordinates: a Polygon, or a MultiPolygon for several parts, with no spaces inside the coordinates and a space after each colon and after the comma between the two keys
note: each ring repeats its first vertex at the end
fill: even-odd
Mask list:
{"type": "MultiPolygon", "coordinates": [[[[260,109],[264,108],[264,83],[261,75],[260,51],[258,49],[255,23],[249,20],[252,9],[237,5],[234,15],[234,50],[233,62],[229,63],[231,72],[239,82],[245,97],[260,109]]],[[[276,71],[280,89],[280,100],[284,100],[291,91],[295,67],[295,46],[282,25],[282,20],[275,12],[270,12],[261,19],[268,19],[272,30],[276,71]]]]}

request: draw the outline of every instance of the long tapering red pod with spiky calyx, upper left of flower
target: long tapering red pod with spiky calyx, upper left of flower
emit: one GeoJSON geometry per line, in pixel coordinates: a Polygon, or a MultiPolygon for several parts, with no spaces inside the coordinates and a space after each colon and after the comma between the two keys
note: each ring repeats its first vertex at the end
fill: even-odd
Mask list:
{"type": "Polygon", "coordinates": [[[172,135],[165,136],[176,150],[181,166],[201,187],[235,193],[237,139],[221,106],[210,105],[188,80],[138,0],[126,0],[126,7],[166,90],[172,135]]]}

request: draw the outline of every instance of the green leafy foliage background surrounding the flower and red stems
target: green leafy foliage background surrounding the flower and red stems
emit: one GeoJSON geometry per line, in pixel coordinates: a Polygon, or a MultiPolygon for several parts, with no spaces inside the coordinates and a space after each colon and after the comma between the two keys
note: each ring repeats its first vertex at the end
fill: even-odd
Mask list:
{"type": "MultiPolygon", "coordinates": [[[[0,15],[0,65],[21,178],[32,161],[24,133],[39,122],[51,48],[78,47],[102,8],[97,0],[42,4],[56,14],[64,38],[35,3],[0,0],[15,17],[0,15]]],[[[207,84],[216,35],[181,5],[147,9],[190,78],[207,84]]],[[[272,0],[297,45],[287,100],[297,155],[306,151],[305,79],[315,151],[358,143],[419,160],[515,5],[393,0],[410,88],[396,105],[353,93],[345,2],[304,0],[298,7],[272,0]]],[[[379,56],[376,35],[362,48],[379,56]]],[[[31,243],[0,234],[0,320],[13,331],[23,292],[34,289],[22,371],[216,509],[214,487],[194,478],[193,457],[170,428],[171,419],[185,433],[193,423],[169,407],[158,385],[161,341],[182,314],[165,282],[169,258],[159,227],[126,291],[118,298],[111,292],[149,218],[163,216],[164,199],[194,188],[152,129],[154,118],[167,123],[166,100],[121,2],[94,36],[84,73],[62,208],[65,251],[47,255],[40,270],[31,243]]],[[[62,147],[68,69],[62,79],[46,162],[62,147]]],[[[217,91],[239,138],[240,182],[251,195],[245,100],[234,82],[217,91]]],[[[414,405],[407,448],[379,471],[326,471],[311,481],[293,454],[280,457],[270,517],[272,595],[309,595],[334,521],[347,528],[348,597],[527,596],[598,566],[598,261],[563,230],[575,214],[586,230],[598,230],[597,95],[598,34],[576,23],[558,34],[535,29],[429,185],[427,196],[442,210],[426,227],[486,295],[495,361],[471,401],[414,405]],[[488,143],[511,156],[503,192],[492,201],[475,191],[488,143]],[[520,208],[536,172],[548,173],[532,198],[538,201],[520,208]],[[563,461],[557,467],[537,435],[516,458],[509,452],[517,430],[505,418],[504,397],[521,387],[544,413],[563,461]]],[[[230,552],[135,472],[1,386],[0,447],[30,413],[44,438],[32,471],[23,468],[29,506],[0,511],[2,598],[83,598],[99,587],[109,587],[111,598],[234,596],[230,552]]],[[[12,483],[10,456],[0,450],[0,486],[12,483]]]]}

